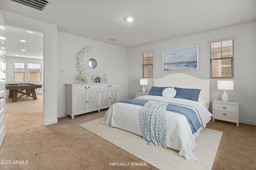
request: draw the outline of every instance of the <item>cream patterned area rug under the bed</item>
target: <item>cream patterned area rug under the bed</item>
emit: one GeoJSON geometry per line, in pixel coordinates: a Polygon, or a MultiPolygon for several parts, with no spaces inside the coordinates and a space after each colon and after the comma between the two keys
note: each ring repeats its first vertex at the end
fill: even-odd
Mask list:
{"type": "Polygon", "coordinates": [[[193,155],[198,160],[186,160],[177,150],[142,144],[142,137],[101,123],[103,118],[82,123],[79,126],[108,142],[133,154],[160,170],[210,170],[220,144],[222,132],[205,128],[196,138],[193,155]]]}

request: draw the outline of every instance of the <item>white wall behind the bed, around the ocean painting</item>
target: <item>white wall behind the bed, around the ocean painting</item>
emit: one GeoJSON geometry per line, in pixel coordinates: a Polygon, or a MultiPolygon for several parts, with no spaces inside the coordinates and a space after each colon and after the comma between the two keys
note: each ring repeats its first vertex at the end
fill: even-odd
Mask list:
{"type": "MultiPolygon", "coordinates": [[[[128,98],[140,92],[141,52],[153,50],[153,78],[170,73],[186,73],[200,79],[210,79],[209,40],[235,37],[234,40],[234,90],[228,91],[230,101],[239,102],[239,122],[256,125],[256,21],[230,26],[218,30],[202,32],[162,42],[150,43],[128,49],[128,98]],[[162,71],[162,51],[199,45],[199,71],[162,71]]],[[[170,30],[171,31],[171,30],[170,30]]],[[[217,89],[217,80],[210,79],[210,111],[212,101],[220,99],[223,91],[217,89]]],[[[153,85],[148,80],[146,91],[153,85]]]]}

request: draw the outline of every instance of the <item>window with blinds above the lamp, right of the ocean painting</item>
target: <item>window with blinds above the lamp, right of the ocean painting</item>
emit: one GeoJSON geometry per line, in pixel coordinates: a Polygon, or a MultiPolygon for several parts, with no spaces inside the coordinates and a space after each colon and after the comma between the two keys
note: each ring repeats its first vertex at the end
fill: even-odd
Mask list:
{"type": "Polygon", "coordinates": [[[209,43],[210,78],[234,78],[234,38],[209,43]]]}

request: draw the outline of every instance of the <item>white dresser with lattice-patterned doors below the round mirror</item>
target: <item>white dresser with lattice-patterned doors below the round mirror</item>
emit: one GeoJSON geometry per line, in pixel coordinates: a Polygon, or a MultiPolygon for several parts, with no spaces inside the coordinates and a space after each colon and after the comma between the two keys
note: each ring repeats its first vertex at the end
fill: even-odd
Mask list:
{"type": "Polygon", "coordinates": [[[119,83],[87,83],[66,85],[66,116],[74,116],[108,108],[119,100],[119,83]]]}

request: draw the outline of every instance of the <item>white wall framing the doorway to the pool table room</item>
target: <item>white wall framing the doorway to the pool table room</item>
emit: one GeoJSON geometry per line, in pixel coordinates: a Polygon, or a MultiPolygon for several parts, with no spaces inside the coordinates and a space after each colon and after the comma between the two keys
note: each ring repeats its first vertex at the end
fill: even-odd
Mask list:
{"type": "MultiPolygon", "coordinates": [[[[44,33],[44,125],[57,123],[57,26],[1,10],[6,25],[44,33]]],[[[8,36],[6,35],[6,38],[8,36]]],[[[8,47],[6,47],[6,50],[8,47]]]]}

